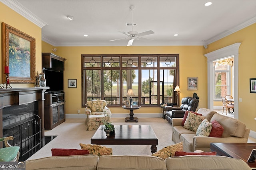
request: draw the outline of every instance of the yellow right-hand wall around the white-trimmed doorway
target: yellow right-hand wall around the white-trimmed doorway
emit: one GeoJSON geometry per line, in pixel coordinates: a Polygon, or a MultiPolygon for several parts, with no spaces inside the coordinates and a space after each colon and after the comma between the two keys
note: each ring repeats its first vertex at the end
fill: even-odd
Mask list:
{"type": "Polygon", "coordinates": [[[246,127],[256,131],[256,94],[250,93],[250,78],[256,78],[256,23],[241,29],[227,37],[224,37],[208,45],[204,53],[209,53],[217,49],[241,43],[239,47],[238,59],[238,97],[242,98],[239,102],[238,117],[246,124],[246,127]]]}

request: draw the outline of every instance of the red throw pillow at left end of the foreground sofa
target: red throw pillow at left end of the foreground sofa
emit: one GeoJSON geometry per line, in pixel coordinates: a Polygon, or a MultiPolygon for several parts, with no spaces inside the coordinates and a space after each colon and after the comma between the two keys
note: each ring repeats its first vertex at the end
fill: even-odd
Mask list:
{"type": "Polygon", "coordinates": [[[51,150],[52,150],[52,156],[70,156],[70,155],[89,154],[88,150],[82,150],[82,149],[56,149],[56,148],[53,148],[51,150]]]}

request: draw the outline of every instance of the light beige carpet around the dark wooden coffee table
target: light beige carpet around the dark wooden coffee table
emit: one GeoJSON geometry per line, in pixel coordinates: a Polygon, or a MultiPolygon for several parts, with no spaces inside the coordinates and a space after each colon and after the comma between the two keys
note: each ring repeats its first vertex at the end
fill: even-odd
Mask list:
{"type": "MultiPolygon", "coordinates": [[[[86,131],[86,119],[71,119],[50,131],[45,131],[46,136],[57,135],[55,139],[38,150],[28,160],[52,156],[52,148],[80,149],[79,143],[90,144],[90,139],[95,131],[86,131]]],[[[139,118],[136,122],[125,122],[124,118],[112,118],[114,125],[151,125],[157,138],[158,150],[174,144],[172,141],[172,125],[162,118],[139,118]]],[[[122,154],[148,154],[151,155],[151,145],[104,145],[113,149],[113,155],[122,154]]]]}

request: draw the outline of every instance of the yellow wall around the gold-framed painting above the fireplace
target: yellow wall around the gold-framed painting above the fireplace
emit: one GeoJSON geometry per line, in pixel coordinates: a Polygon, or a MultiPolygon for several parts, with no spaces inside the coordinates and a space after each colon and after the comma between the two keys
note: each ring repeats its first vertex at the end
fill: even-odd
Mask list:
{"type": "MultiPolygon", "coordinates": [[[[2,22],[11,25],[12,27],[34,37],[36,39],[36,72],[39,73],[41,70],[42,62],[42,33],[41,28],[30,22],[26,18],[22,17],[20,14],[17,14],[12,9],[8,8],[6,5],[0,2],[0,22],[1,22],[1,33],[2,33],[2,22]]],[[[2,39],[2,34],[0,35],[2,39]]],[[[0,41],[0,48],[2,51],[2,41],[0,41]]],[[[2,53],[0,53],[2,59],[2,53]]],[[[0,61],[0,68],[2,70],[2,60],[0,61]]],[[[2,82],[2,74],[0,75],[0,81],[2,82]]],[[[34,75],[36,76],[36,75],[34,75]]],[[[3,83],[3,82],[2,82],[3,83]]],[[[34,84],[12,84],[12,88],[24,88],[24,87],[34,87],[34,84]]]]}

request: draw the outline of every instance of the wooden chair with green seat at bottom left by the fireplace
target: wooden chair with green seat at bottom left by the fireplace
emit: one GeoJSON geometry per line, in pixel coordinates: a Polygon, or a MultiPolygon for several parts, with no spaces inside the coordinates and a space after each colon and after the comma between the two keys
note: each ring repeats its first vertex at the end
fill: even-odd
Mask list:
{"type": "Polygon", "coordinates": [[[4,142],[5,147],[0,149],[0,162],[18,162],[20,157],[20,147],[12,147],[8,140],[13,140],[13,136],[2,137],[0,142],[4,142]]]}

